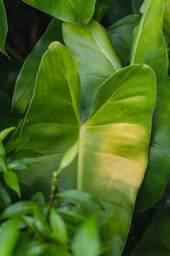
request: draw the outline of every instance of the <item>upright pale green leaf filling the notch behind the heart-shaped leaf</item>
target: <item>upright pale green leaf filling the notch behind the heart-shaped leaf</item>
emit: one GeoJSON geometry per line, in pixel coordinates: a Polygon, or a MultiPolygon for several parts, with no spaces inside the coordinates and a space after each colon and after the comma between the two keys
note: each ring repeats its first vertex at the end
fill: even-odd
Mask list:
{"type": "Polygon", "coordinates": [[[86,26],[64,22],[63,38],[79,67],[80,107],[85,122],[91,114],[97,88],[121,68],[121,63],[106,30],[94,20],[86,26]]]}

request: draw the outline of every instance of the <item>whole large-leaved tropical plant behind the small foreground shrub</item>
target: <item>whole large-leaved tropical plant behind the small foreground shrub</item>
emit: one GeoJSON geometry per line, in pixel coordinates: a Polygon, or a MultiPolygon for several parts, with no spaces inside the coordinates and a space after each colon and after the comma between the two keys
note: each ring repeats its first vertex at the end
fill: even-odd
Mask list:
{"type": "MultiPolygon", "coordinates": [[[[0,49],[8,57],[7,19],[0,2],[0,49]]],[[[18,150],[37,152],[44,164],[18,170],[19,181],[48,201],[56,165],[79,141],[77,156],[59,175],[58,191],[77,189],[102,202],[105,211],[99,208],[95,214],[107,248],[103,254],[120,256],[134,207],[169,207],[169,1],[131,1],[134,13],[143,2],[141,16],[126,16],[107,29],[99,22],[105,13],[111,22],[118,10],[114,0],[24,2],[54,18],[24,62],[12,103],[0,94],[5,106],[1,130],[17,126],[13,137],[27,138],[18,150]]],[[[168,223],[169,211],[163,209],[162,216],[168,223]]],[[[161,210],[152,223],[158,218],[161,210]]],[[[153,225],[133,256],[143,252],[153,225]]],[[[154,247],[145,254],[152,250],[160,255],[154,247]]]]}

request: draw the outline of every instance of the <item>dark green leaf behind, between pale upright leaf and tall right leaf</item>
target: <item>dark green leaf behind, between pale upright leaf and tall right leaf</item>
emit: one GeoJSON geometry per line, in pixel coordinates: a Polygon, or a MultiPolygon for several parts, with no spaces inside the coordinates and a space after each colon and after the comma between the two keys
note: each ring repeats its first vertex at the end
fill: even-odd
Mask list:
{"type": "Polygon", "coordinates": [[[133,30],[140,20],[140,16],[130,15],[119,20],[108,27],[107,32],[112,41],[117,56],[119,56],[122,66],[130,61],[130,50],[133,40],[133,30]]]}

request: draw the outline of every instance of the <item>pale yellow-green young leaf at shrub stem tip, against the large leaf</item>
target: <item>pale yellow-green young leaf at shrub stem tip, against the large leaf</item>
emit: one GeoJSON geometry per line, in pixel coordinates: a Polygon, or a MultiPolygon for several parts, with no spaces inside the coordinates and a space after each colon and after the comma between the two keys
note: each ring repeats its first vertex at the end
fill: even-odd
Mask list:
{"type": "Polygon", "coordinates": [[[68,165],[70,165],[73,162],[73,160],[75,159],[78,153],[78,150],[79,150],[79,140],[77,140],[75,144],[71,146],[71,148],[69,148],[64,154],[64,156],[62,157],[62,160],[60,162],[61,170],[66,168],[68,165]]]}

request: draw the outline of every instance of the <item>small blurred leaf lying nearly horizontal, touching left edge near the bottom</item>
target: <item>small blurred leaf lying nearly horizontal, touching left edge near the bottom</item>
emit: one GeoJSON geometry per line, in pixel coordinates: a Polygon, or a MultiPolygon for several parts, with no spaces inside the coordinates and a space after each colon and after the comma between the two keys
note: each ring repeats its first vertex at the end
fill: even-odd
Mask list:
{"type": "Polygon", "coordinates": [[[37,204],[32,201],[21,201],[7,207],[0,216],[0,220],[20,217],[22,214],[30,214],[37,204]]]}

